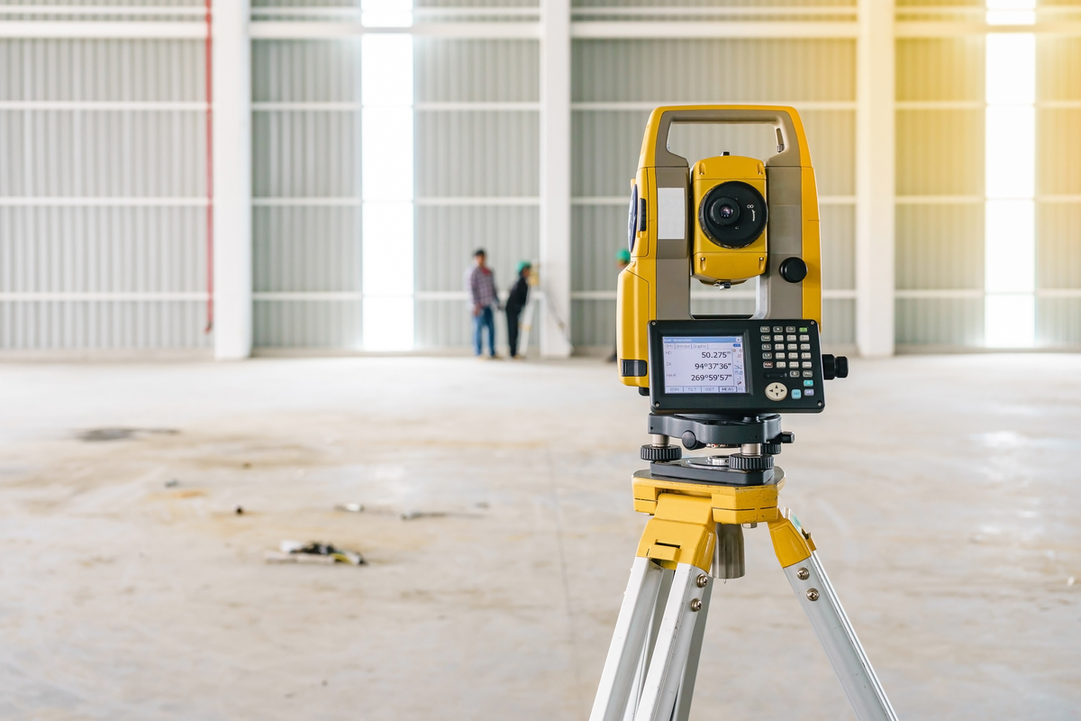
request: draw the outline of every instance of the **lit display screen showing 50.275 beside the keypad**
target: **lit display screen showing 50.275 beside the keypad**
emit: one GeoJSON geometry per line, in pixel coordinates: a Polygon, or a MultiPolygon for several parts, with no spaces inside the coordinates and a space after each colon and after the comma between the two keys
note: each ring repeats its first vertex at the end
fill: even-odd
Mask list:
{"type": "Polygon", "coordinates": [[[744,337],[664,336],[666,393],[746,393],[744,337]]]}

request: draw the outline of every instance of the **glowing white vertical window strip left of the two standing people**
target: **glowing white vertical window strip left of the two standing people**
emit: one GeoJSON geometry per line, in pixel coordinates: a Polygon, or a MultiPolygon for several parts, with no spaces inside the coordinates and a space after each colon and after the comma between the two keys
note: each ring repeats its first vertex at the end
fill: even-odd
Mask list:
{"type": "MultiPolygon", "coordinates": [[[[398,3],[372,4],[379,5],[383,12],[383,5],[398,3]]],[[[368,5],[368,2],[363,5],[365,13],[368,5]]],[[[364,349],[411,350],[412,37],[398,34],[363,36],[360,69],[364,349]]]]}

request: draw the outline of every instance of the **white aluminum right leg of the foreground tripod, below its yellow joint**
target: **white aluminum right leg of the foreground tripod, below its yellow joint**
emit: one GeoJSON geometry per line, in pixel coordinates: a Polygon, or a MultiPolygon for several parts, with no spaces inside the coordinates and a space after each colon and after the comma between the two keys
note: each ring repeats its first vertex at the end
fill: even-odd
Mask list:
{"type": "Polygon", "coordinates": [[[882,684],[815,552],[785,569],[859,721],[897,721],[882,684]]]}

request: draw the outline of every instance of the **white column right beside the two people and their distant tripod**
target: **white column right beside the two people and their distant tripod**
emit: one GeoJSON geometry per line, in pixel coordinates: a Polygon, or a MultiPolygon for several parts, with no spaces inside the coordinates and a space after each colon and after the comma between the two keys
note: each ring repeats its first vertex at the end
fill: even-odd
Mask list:
{"type": "Polygon", "coordinates": [[[571,355],[571,3],[540,14],[540,355],[571,355]]]}

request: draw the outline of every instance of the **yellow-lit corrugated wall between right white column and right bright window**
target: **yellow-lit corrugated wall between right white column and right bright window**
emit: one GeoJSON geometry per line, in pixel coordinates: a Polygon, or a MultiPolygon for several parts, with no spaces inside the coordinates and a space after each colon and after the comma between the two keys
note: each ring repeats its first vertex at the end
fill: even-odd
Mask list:
{"type": "Polygon", "coordinates": [[[896,339],[984,339],[984,38],[897,41],[896,339]]]}

